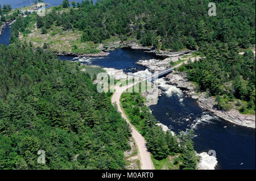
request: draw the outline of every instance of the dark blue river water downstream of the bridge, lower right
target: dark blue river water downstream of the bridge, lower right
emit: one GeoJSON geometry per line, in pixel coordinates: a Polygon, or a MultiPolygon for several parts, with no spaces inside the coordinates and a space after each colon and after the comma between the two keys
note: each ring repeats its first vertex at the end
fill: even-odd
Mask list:
{"type": "Polygon", "coordinates": [[[197,153],[216,151],[216,169],[255,169],[255,129],[244,128],[203,112],[192,98],[183,102],[162,96],[150,106],[160,123],[179,133],[193,128],[197,153]]]}

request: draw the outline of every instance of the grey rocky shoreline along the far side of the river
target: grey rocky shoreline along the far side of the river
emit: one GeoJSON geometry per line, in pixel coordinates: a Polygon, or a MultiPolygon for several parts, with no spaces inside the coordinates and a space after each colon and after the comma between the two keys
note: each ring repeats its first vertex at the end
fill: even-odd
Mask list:
{"type": "MultiPolygon", "coordinates": [[[[0,27],[0,35],[2,35],[3,28],[5,28],[9,24],[13,23],[14,21],[15,20],[10,20],[9,22],[5,22],[4,24],[2,24],[2,26],[0,27]]],[[[192,50],[183,50],[181,52],[152,50],[152,48],[150,48],[150,47],[142,47],[141,45],[138,45],[138,43],[136,41],[133,41],[130,43],[117,41],[115,43],[107,45],[106,47],[104,47],[102,45],[100,45],[99,47],[101,47],[101,49],[100,49],[101,52],[95,53],[95,54],[93,54],[93,53],[77,54],[77,53],[73,53],[73,52],[67,52],[67,53],[55,52],[55,54],[57,56],[104,57],[104,56],[109,55],[109,51],[119,49],[119,48],[143,49],[148,53],[154,53],[156,56],[168,57],[162,61],[163,64],[159,64],[160,66],[153,64],[154,68],[152,68],[152,66],[153,66],[152,61],[154,61],[154,60],[138,61],[139,65],[142,65],[142,66],[150,69],[151,71],[155,71],[156,68],[163,69],[164,65],[168,65],[168,62],[170,62],[170,59],[172,60],[172,58],[181,57],[181,56],[184,56],[184,54],[188,54],[188,53],[192,52],[192,50]],[[108,52],[106,52],[106,51],[108,51],[108,52]]],[[[158,62],[161,63],[161,61],[158,61],[158,62]]],[[[166,76],[166,78],[168,79],[168,76],[170,77],[170,75],[173,75],[173,74],[168,74],[166,76]]],[[[183,75],[183,76],[181,76],[181,78],[179,78],[179,80],[176,79],[176,81],[175,80],[171,81],[171,79],[169,79],[168,81],[170,82],[171,85],[176,85],[177,88],[180,88],[181,90],[183,90],[183,92],[185,92],[188,96],[191,96],[193,99],[197,99],[197,104],[199,104],[199,106],[203,110],[209,111],[214,116],[220,117],[221,119],[229,121],[230,123],[255,129],[255,115],[243,115],[239,111],[234,110],[234,109],[232,109],[230,111],[217,110],[217,108],[215,108],[216,103],[214,102],[214,98],[213,97],[205,98],[205,95],[202,95],[202,94],[197,95],[195,86],[191,82],[188,81],[186,76],[183,75]],[[179,86],[179,84],[181,84],[182,86],[179,86]]]]}

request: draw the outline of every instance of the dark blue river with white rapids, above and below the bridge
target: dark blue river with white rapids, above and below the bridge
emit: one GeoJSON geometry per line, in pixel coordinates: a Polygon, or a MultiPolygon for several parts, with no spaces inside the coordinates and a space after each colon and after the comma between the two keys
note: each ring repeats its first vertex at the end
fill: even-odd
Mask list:
{"type": "MultiPolygon", "coordinates": [[[[10,27],[0,35],[0,45],[9,44],[10,27]]],[[[79,60],[77,57],[60,57],[62,60],[79,60]]],[[[107,57],[80,58],[81,62],[106,68],[127,71],[144,70],[135,64],[138,60],[159,58],[143,50],[118,49],[107,57]]],[[[244,128],[228,123],[203,112],[192,98],[175,86],[170,86],[158,104],[150,106],[152,114],[160,123],[179,133],[193,128],[195,130],[195,150],[197,153],[216,151],[216,169],[255,169],[255,129],[244,128]]]]}

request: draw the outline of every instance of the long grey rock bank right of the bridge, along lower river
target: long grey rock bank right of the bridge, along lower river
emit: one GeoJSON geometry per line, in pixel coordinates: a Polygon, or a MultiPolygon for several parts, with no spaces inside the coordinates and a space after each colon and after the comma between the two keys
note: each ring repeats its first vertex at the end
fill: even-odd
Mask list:
{"type": "Polygon", "coordinates": [[[188,81],[187,75],[180,72],[168,74],[166,79],[172,85],[176,85],[179,89],[185,92],[186,96],[191,96],[197,99],[199,106],[211,112],[214,116],[220,117],[231,123],[241,125],[243,127],[255,128],[255,115],[243,115],[238,110],[232,109],[230,111],[217,110],[216,102],[213,96],[207,98],[206,93],[197,93],[197,87],[188,81]]]}

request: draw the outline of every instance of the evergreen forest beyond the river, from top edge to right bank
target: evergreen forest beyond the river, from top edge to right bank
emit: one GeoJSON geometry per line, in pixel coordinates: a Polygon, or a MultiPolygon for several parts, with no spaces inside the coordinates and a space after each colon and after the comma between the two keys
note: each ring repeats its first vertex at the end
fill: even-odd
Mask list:
{"type": "MultiPolygon", "coordinates": [[[[200,61],[181,67],[201,91],[216,95],[217,107],[255,114],[255,1],[217,1],[216,16],[208,16],[209,0],[104,0],[68,1],[37,18],[42,33],[54,26],[82,31],[81,41],[110,37],[137,39],[144,46],[163,50],[199,49],[200,61]],[[65,11],[65,9],[68,9],[65,11]],[[60,13],[61,12],[61,13],[60,13]]],[[[11,42],[26,32],[29,20],[17,21],[11,42]]]]}

